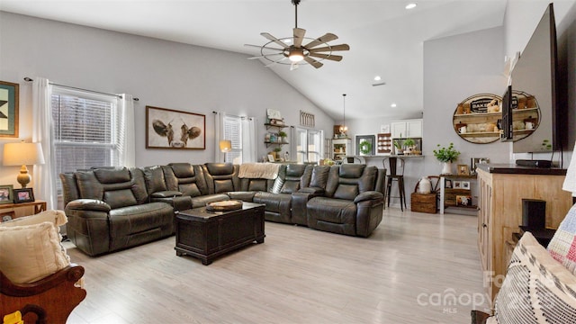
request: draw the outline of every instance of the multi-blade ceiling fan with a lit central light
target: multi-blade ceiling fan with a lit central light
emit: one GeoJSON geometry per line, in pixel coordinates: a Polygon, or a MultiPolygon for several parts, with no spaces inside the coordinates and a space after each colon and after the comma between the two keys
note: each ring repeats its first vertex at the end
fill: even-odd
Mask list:
{"type": "Polygon", "coordinates": [[[306,30],[298,28],[298,4],[300,0],[292,0],[295,9],[295,26],[293,28],[293,37],[285,37],[277,39],[268,32],[261,32],[260,35],[264,36],[268,41],[263,46],[249,45],[245,46],[257,47],[260,49],[260,56],[251,57],[248,59],[256,58],[266,58],[269,60],[270,64],[266,67],[271,67],[275,64],[285,64],[290,65],[290,69],[293,70],[298,68],[299,64],[310,64],[312,67],[322,67],[324,64],[321,60],[329,59],[334,61],[340,61],[342,56],[334,55],[332,52],[338,50],[348,50],[350,47],[347,44],[330,45],[329,41],[338,40],[338,36],[333,33],[326,33],[317,39],[311,39],[304,37],[306,30]],[[311,40],[306,45],[302,45],[304,40],[311,40]],[[271,46],[273,45],[273,46],[271,46]],[[274,45],[280,46],[274,47],[274,45]],[[323,45],[319,47],[320,45],[323,45]],[[284,62],[286,59],[289,62],[284,62]],[[302,63],[302,61],[306,63],[302,63]]]}

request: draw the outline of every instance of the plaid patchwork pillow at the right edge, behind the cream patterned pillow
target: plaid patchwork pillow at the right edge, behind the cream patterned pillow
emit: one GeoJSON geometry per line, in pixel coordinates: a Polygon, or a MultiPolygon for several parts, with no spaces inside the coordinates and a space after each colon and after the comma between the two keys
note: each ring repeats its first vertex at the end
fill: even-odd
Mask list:
{"type": "Polygon", "coordinates": [[[576,275],[576,204],[568,211],[554,233],[548,244],[548,252],[576,275]]]}

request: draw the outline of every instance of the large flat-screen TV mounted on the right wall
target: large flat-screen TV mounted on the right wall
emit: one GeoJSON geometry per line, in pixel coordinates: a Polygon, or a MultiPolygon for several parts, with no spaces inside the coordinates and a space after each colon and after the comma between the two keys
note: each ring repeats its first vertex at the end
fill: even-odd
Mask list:
{"type": "MultiPolygon", "coordinates": [[[[559,103],[559,72],[554,5],[549,4],[512,70],[512,95],[508,107],[512,111],[503,129],[502,140],[514,141],[514,153],[561,150],[565,123],[559,103]]],[[[508,89],[507,93],[510,89],[508,89]]],[[[503,116],[504,117],[504,116],[503,116]]],[[[504,123],[504,118],[502,120],[504,123]]]]}

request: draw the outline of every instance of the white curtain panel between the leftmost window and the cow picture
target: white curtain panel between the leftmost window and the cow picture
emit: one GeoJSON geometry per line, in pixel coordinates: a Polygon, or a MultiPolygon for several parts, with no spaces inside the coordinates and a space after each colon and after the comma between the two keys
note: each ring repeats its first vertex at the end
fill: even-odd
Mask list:
{"type": "Polygon", "coordinates": [[[119,163],[121,166],[136,166],[136,139],[134,138],[134,99],[131,94],[121,94],[118,99],[119,163]]]}

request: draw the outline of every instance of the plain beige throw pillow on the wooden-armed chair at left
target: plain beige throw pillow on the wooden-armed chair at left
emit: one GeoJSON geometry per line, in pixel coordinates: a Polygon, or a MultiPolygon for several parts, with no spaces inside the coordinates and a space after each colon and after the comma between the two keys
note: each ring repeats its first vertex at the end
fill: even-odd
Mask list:
{"type": "Polygon", "coordinates": [[[15,284],[30,284],[70,264],[52,222],[0,226],[0,271],[15,284]]]}

